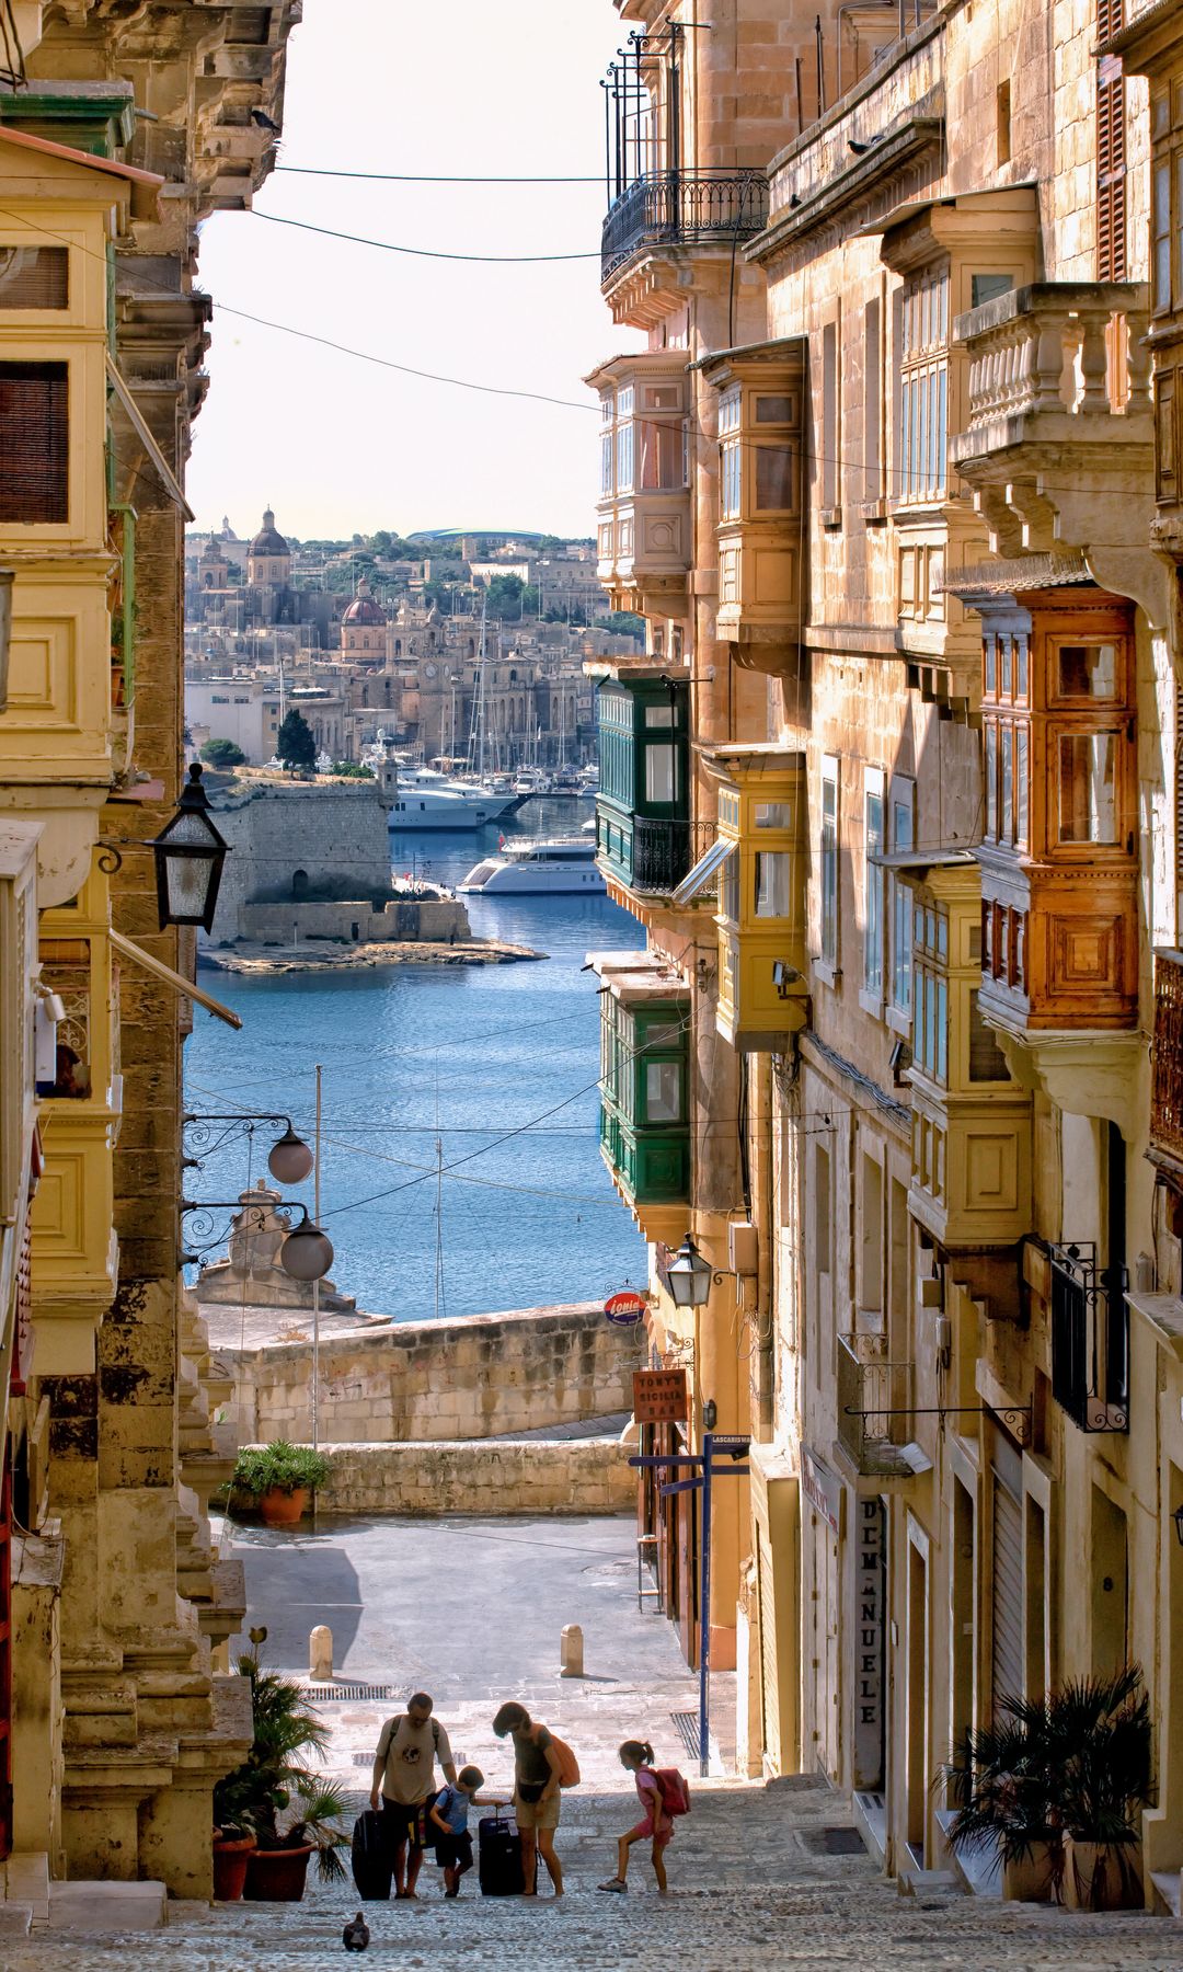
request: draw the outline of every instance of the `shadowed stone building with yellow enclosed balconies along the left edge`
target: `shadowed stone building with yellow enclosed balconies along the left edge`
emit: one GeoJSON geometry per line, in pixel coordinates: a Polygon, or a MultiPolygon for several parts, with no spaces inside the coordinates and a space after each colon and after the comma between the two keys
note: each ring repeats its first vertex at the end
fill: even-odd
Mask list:
{"type": "Polygon", "coordinates": [[[250,1739],[243,1688],[211,1656],[243,1578],[209,1538],[231,1463],[179,1282],[193,943],[158,929],[142,844],[181,767],[181,479],[211,312],[197,223],[246,207],[266,176],[250,112],[282,114],[300,8],[81,0],[16,18],[28,87],[0,95],[0,560],[16,572],[0,667],[0,1856],[205,1897],[211,1791],[250,1739]]]}

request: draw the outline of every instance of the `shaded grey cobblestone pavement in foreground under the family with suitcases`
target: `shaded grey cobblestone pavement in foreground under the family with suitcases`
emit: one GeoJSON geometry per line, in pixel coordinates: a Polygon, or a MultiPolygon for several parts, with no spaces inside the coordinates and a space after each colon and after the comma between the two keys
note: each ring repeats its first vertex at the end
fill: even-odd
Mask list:
{"type": "MultiPolygon", "coordinates": [[[[818,1783],[694,1787],[694,1808],[668,1854],[661,1899],[645,1856],[623,1897],[595,1883],[613,1871],[613,1836],[635,1796],[570,1795],[560,1854],[562,1903],[483,1899],[473,1877],[455,1903],[424,1867],[418,1903],[369,1905],[367,1964],[440,1972],[564,1972],[613,1966],[759,1972],[769,1966],[988,1968],[1065,1966],[1075,1972],[1177,1972],[1183,1927],[1140,1913],[1077,1917],[974,1897],[899,1897],[850,1842],[850,1816],[818,1783]]],[[[341,1925],[353,1887],[310,1885],[304,1905],[174,1905],[166,1931],[110,1938],[47,1933],[0,1942],[4,1972],[313,1972],[343,1962],[341,1925]]]]}

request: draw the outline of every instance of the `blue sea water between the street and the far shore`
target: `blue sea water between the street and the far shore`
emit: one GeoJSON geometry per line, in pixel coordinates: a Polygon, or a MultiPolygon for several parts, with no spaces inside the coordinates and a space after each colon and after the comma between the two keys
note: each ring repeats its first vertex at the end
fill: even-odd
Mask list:
{"type": "MultiPolygon", "coordinates": [[[[588,801],[532,801],[505,834],[574,834],[588,801]]],[[[459,881],[479,834],[392,836],[392,868],[459,881]]],[[[641,947],[607,897],[467,897],[477,937],[546,952],[499,966],[390,966],[246,978],[203,972],[243,1018],[193,1010],[189,1110],[280,1110],[312,1142],[323,1067],[321,1219],[331,1278],[367,1311],[420,1321],[592,1300],[645,1282],[645,1244],[597,1148],[595,949],[641,947]],[[436,1142],[444,1175],[436,1175],[436,1142]]],[[[189,1199],[266,1179],[274,1132],[233,1136],[189,1199]]],[[[270,1179],[266,1179],[270,1183],[270,1179]]],[[[294,1187],[312,1211],[312,1179],[294,1187]]],[[[217,1231],[229,1221],[219,1215],[217,1231]]],[[[191,1234],[189,1234],[189,1242],[191,1234]]],[[[225,1238],[209,1254],[225,1252],[225,1238]]]]}

